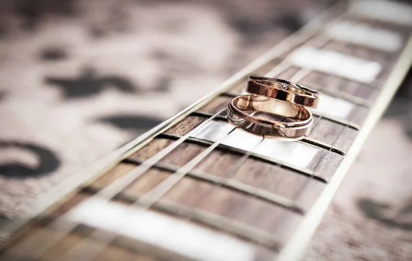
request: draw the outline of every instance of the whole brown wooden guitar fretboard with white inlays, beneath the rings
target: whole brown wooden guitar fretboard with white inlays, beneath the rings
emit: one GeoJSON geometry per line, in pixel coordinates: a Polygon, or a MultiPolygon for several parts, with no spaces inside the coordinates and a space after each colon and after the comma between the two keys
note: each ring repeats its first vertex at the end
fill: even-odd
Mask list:
{"type": "Polygon", "coordinates": [[[298,260],[412,62],[412,5],[339,4],[0,231],[0,260],[298,260]],[[322,92],[307,138],[233,129],[248,75],[322,92]]]}

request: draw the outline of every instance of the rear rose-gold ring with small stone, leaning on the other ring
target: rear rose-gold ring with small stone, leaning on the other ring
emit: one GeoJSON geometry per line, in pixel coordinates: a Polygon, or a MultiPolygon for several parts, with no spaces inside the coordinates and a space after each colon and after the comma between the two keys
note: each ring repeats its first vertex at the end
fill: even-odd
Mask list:
{"type": "Polygon", "coordinates": [[[316,90],[284,79],[255,76],[249,76],[249,78],[246,91],[253,95],[262,95],[309,108],[317,108],[319,99],[316,90]]]}

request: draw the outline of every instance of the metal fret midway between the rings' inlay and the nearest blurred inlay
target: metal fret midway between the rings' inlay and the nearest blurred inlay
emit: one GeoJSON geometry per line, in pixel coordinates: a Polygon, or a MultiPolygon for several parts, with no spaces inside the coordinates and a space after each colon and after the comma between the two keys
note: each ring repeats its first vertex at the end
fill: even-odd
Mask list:
{"type": "MultiPolygon", "coordinates": [[[[144,160],[128,158],[128,159],[125,159],[124,162],[133,163],[133,164],[141,164],[142,162],[144,162],[144,160]]],[[[170,171],[172,173],[176,172],[179,169],[179,166],[168,164],[165,162],[158,162],[153,167],[157,169],[162,169],[164,171],[170,171]]],[[[252,197],[257,197],[258,199],[268,201],[282,208],[287,208],[288,210],[291,210],[298,214],[305,213],[305,211],[301,207],[297,206],[293,201],[291,201],[290,199],[287,199],[286,197],[282,197],[280,195],[269,192],[267,190],[249,186],[242,182],[237,182],[236,180],[233,180],[233,179],[226,179],[224,177],[218,177],[216,175],[205,173],[203,171],[197,171],[195,169],[188,171],[186,175],[190,177],[195,177],[196,179],[201,179],[205,182],[217,184],[219,186],[223,186],[231,190],[236,190],[237,192],[251,195],[252,197]]]]}

